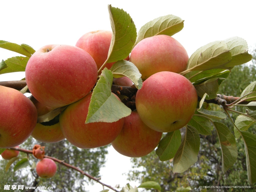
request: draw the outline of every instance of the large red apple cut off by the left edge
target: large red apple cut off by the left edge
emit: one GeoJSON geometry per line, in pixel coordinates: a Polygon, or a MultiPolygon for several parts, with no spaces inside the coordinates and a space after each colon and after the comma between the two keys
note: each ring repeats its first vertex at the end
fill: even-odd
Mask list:
{"type": "Polygon", "coordinates": [[[21,92],[0,86],[0,148],[22,144],[37,122],[35,105],[21,92]]]}

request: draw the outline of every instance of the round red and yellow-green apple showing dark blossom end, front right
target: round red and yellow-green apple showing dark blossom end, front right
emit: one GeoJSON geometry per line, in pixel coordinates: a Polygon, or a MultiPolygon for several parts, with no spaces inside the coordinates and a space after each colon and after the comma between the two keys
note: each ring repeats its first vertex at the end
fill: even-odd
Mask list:
{"type": "Polygon", "coordinates": [[[162,71],[143,82],[135,102],[147,126],[159,132],[172,132],[185,126],[194,115],[197,92],[184,76],[162,71]]]}

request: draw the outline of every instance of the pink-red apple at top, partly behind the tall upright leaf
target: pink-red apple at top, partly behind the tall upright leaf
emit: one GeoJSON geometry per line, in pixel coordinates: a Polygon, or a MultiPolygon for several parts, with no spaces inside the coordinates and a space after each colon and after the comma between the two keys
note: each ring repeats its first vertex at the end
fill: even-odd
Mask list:
{"type": "MultiPolygon", "coordinates": [[[[88,52],[97,64],[98,70],[108,58],[109,47],[112,39],[112,31],[97,30],[82,35],[76,42],[76,46],[88,52]]],[[[125,59],[129,60],[129,56],[125,59]]],[[[106,63],[110,69],[114,62],[106,63]]],[[[101,74],[101,71],[99,72],[101,74]]]]}

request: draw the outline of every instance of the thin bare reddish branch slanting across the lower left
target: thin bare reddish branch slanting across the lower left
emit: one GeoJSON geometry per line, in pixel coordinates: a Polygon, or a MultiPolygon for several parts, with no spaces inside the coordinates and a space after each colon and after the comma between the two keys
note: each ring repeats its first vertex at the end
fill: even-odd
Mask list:
{"type": "MultiPolygon", "coordinates": [[[[27,153],[27,154],[33,154],[33,151],[31,151],[31,150],[26,150],[26,149],[22,149],[22,148],[19,148],[19,147],[12,147],[12,148],[10,148],[10,149],[16,150],[16,151],[21,151],[21,152],[27,153]]],[[[113,191],[120,192],[120,191],[114,189],[113,187],[111,187],[110,185],[107,185],[107,184],[102,183],[98,178],[95,178],[95,177],[93,177],[93,176],[91,176],[91,175],[85,173],[83,170],[79,169],[78,167],[75,167],[75,166],[73,166],[73,165],[70,165],[70,164],[68,164],[68,163],[65,163],[63,160],[59,160],[59,159],[57,159],[57,158],[55,158],[55,157],[51,157],[51,156],[47,156],[47,155],[45,155],[44,157],[45,157],[45,158],[52,159],[53,161],[58,162],[58,163],[60,163],[60,164],[62,164],[62,165],[64,165],[64,166],[66,166],[66,167],[68,167],[68,168],[74,169],[74,170],[80,172],[82,175],[85,175],[85,176],[87,176],[88,178],[93,179],[93,180],[95,180],[96,182],[100,183],[102,186],[106,186],[106,187],[112,189],[113,191]]]]}

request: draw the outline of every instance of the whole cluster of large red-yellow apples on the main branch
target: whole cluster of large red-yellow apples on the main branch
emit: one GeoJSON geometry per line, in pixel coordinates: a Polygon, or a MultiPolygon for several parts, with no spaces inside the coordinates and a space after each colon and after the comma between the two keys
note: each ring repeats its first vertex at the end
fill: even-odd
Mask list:
{"type": "MultiPolygon", "coordinates": [[[[36,51],[25,70],[32,96],[0,87],[0,147],[17,146],[32,135],[47,143],[66,138],[79,148],[111,143],[123,155],[141,157],[155,149],[163,132],[185,126],[196,109],[197,93],[193,84],[178,74],[187,67],[185,48],[167,35],[141,40],[126,58],[144,81],[136,94],[136,110],[116,122],[84,123],[111,38],[112,31],[93,31],[84,34],[75,46],[46,45],[36,51]],[[38,116],[66,105],[59,117],[37,123],[38,116]]],[[[107,63],[106,67],[112,65],[107,63]]],[[[114,83],[133,84],[126,77],[114,79],[114,83]]]]}

